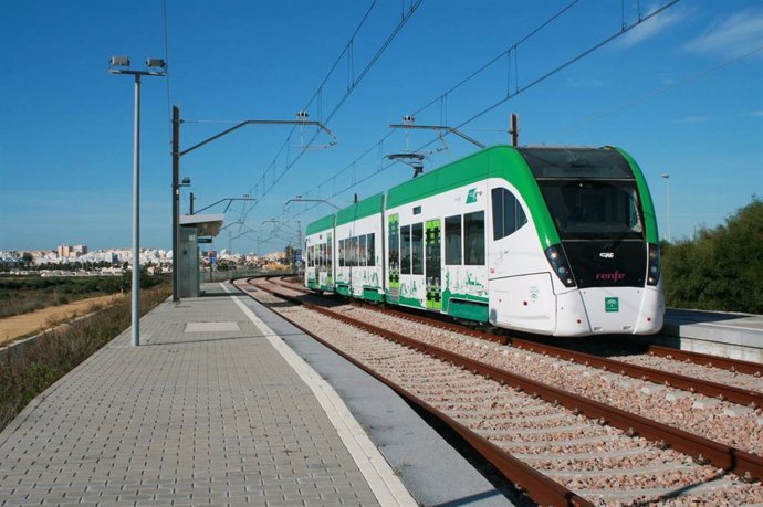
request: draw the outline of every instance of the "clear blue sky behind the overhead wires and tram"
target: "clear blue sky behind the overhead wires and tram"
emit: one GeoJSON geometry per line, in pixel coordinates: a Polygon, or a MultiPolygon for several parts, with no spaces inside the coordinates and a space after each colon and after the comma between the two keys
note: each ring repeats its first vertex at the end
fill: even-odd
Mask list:
{"type": "Polygon", "coordinates": [[[293,119],[305,106],[338,139],[325,148],[328,137],[313,128],[248,126],[184,156],[192,186],[182,212],[189,191],[197,210],[257,199],[232,203],[226,222],[243,224],[223,231],[218,250],[229,239],[238,252],[280,250],[295,241],[297,221],[304,229],[332,211],[322,202],[284,207],[295,196],[344,207],[354,193],[410,178],[386,155],[420,149],[428,169],[469,155],[477,147],[456,136],[388,125],[414,112],[419,125],[461,125],[506,91],[509,101],[462,130],[506,142],[513,112],[521,144],[625,148],[647,177],[663,237],[661,173],[670,175],[673,240],[763,194],[760,1],[679,1],[529,86],[668,3],[628,0],[621,11],[620,2],[579,0],[443,95],[569,3],[424,0],[359,78],[417,0],[378,0],[331,75],[372,1],[0,2],[0,250],[130,245],[133,81],[108,74],[112,54],[134,67],[147,56],[169,62],[168,78],[145,78],[142,88],[143,246],[171,242],[170,104],[186,120],[182,149],[232,125],[224,122],[293,119]],[[285,225],[262,223],[273,219],[285,225]]]}

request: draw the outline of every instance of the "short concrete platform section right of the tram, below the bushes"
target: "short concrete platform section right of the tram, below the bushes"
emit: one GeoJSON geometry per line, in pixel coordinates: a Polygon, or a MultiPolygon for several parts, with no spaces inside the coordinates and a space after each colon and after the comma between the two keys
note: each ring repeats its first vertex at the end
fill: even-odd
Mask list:
{"type": "Polygon", "coordinates": [[[763,316],[668,308],[657,340],[670,347],[763,362],[763,316]]]}

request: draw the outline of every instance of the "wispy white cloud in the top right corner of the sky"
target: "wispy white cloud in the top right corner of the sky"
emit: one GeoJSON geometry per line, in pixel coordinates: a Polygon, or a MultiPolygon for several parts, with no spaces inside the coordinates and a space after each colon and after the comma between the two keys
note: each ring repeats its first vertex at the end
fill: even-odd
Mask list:
{"type": "Polygon", "coordinates": [[[683,46],[694,53],[736,56],[763,47],[763,10],[748,9],[711,24],[683,46]]]}

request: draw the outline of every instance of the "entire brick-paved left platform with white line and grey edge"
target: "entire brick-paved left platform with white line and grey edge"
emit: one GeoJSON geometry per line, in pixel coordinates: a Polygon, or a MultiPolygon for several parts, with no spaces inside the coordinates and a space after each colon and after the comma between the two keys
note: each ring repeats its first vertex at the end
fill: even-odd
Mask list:
{"type": "Polygon", "coordinates": [[[383,383],[228,284],[0,433],[0,505],[511,505],[383,383]]]}

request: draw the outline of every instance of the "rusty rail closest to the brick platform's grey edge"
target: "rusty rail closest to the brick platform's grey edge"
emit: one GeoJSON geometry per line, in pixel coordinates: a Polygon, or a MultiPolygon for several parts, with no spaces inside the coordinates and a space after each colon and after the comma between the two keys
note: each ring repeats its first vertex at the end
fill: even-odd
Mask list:
{"type": "MultiPolygon", "coordinates": [[[[280,284],[279,284],[280,285],[280,284]]],[[[248,295],[249,297],[254,297],[250,293],[243,291],[241,287],[238,287],[239,291],[241,291],[243,294],[248,295]]],[[[302,305],[303,307],[318,311],[321,314],[327,315],[331,318],[337,318],[338,315],[334,311],[327,310],[325,308],[322,308],[320,306],[310,304],[310,303],[304,303],[301,302],[300,299],[295,298],[294,296],[289,296],[284,294],[279,294],[276,291],[273,291],[269,287],[263,287],[263,286],[258,286],[258,288],[272,294],[276,297],[280,297],[282,299],[289,300],[290,303],[294,303],[297,305],[302,305]]],[[[363,362],[358,361],[357,359],[353,358],[342,349],[335,347],[331,342],[326,341],[325,339],[321,338],[320,336],[315,335],[311,330],[304,328],[296,321],[292,320],[289,316],[279,314],[281,318],[284,320],[288,320],[292,326],[296,327],[300,329],[302,332],[305,335],[312,337],[316,341],[321,342],[323,346],[327,347],[332,351],[338,353],[356,367],[360,368],[363,371],[366,373],[370,374],[372,377],[376,378],[380,382],[385,383],[388,385],[390,389],[393,389],[395,392],[410,401],[411,403],[416,404],[417,406],[420,406],[422,410],[425,410],[427,413],[431,414],[435,418],[438,418],[440,421],[442,421],[445,424],[447,424],[449,427],[451,427],[454,432],[457,432],[459,435],[461,435],[480,455],[482,455],[488,462],[490,462],[501,474],[504,475],[510,482],[514,484],[514,486],[522,493],[527,494],[534,501],[536,501],[540,505],[552,505],[552,506],[575,506],[575,507],[587,507],[587,506],[593,506],[590,501],[586,500],[585,498],[579,497],[576,495],[574,492],[565,488],[557,482],[548,478],[547,476],[543,475],[542,473],[535,471],[533,467],[530,465],[525,464],[524,462],[513,457],[510,453],[506,451],[502,450],[498,445],[493,444],[485,437],[479,435],[478,433],[473,432],[466,425],[457,422],[454,419],[450,418],[449,415],[445,414],[437,408],[430,405],[426,401],[421,400],[417,395],[412,394],[401,385],[397,384],[396,382],[387,379],[379,372],[370,369],[363,362]]],[[[356,326],[357,327],[357,326],[356,326]]],[[[378,332],[375,332],[378,334],[378,332]]],[[[379,335],[383,336],[384,335],[379,335]]],[[[385,337],[386,338],[386,337],[385,337]]]]}

